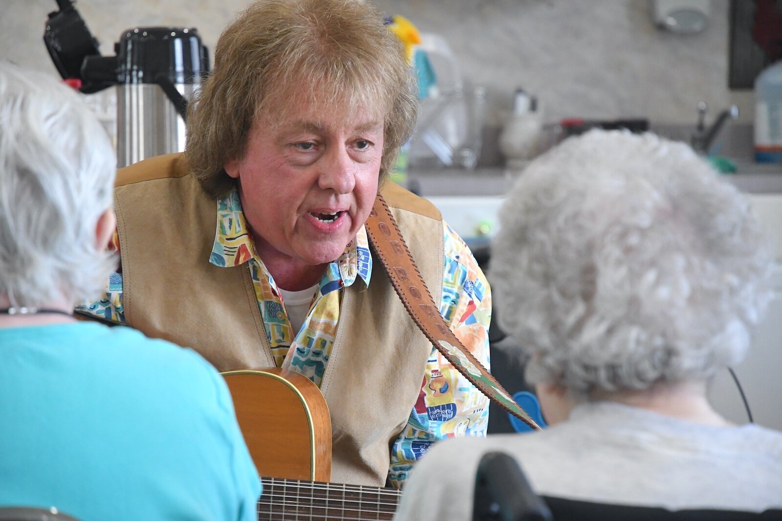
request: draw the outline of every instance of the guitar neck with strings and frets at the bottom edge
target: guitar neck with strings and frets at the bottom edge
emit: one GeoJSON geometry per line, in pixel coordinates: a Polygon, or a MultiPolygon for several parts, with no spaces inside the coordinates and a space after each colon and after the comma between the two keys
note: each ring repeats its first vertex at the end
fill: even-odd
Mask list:
{"type": "Polygon", "coordinates": [[[393,488],[364,487],[317,481],[262,478],[258,499],[259,521],[286,519],[391,519],[401,492],[393,488]]]}

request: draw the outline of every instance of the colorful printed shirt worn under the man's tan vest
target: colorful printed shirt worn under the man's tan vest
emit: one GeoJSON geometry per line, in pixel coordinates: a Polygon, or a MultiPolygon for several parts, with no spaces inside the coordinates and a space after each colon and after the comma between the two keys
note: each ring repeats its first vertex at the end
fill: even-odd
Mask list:
{"type": "MultiPolygon", "coordinates": [[[[445,263],[440,314],[459,340],[489,366],[489,323],[491,292],[486,278],[464,241],[443,222],[445,263]]],[[[115,239],[113,247],[120,245],[115,239]]],[[[293,331],[285,303],[274,277],[255,251],[246,225],[238,191],[217,201],[217,231],[209,262],[214,266],[247,263],[267,339],[277,366],[296,370],[320,386],[339,323],[343,287],[370,284],[372,256],[362,227],[343,255],[328,264],[310,303],[301,330],[293,331]]],[[[81,306],[102,319],[124,323],[122,277],[109,280],[104,298],[81,306]]],[[[489,401],[432,348],[421,393],[407,426],[393,443],[389,483],[400,488],[414,462],[433,443],[447,437],[485,436],[489,401]]]]}

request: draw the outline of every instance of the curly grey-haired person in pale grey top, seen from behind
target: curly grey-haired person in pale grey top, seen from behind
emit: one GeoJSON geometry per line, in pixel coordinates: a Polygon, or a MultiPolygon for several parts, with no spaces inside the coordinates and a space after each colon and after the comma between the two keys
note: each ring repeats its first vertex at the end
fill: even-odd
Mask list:
{"type": "Polygon", "coordinates": [[[782,434],[730,424],[706,395],[747,351],[771,257],[748,200],[687,145],[593,130],[536,159],[500,212],[490,279],[550,426],[433,448],[396,519],[472,519],[470,476],[497,450],[548,496],[780,508],[782,434]]]}

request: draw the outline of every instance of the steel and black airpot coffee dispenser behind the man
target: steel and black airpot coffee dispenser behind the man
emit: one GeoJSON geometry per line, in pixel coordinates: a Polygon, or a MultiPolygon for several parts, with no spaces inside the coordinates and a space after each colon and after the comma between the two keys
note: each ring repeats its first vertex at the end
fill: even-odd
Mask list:
{"type": "Polygon", "coordinates": [[[56,0],[44,43],[63,80],[84,94],[117,88],[117,164],[185,149],[185,107],[209,70],[198,30],[127,29],[102,56],[72,0],[56,0]]]}

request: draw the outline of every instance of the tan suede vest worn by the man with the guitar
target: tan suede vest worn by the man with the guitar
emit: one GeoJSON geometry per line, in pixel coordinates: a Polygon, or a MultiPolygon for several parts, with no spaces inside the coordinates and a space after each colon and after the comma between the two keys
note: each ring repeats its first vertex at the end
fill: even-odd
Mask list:
{"type": "MultiPolygon", "coordinates": [[[[382,193],[439,300],[439,212],[395,184],[382,193]]],[[[127,323],[194,348],[220,371],[274,366],[246,264],[209,262],[217,205],[183,157],[163,155],[121,169],[115,205],[127,323]]],[[[432,344],[407,315],[378,259],[368,289],[358,287],[343,295],[321,391],[332,416],[332,481],[381,487],[390,444],[418,399],[432,344]]]]}

